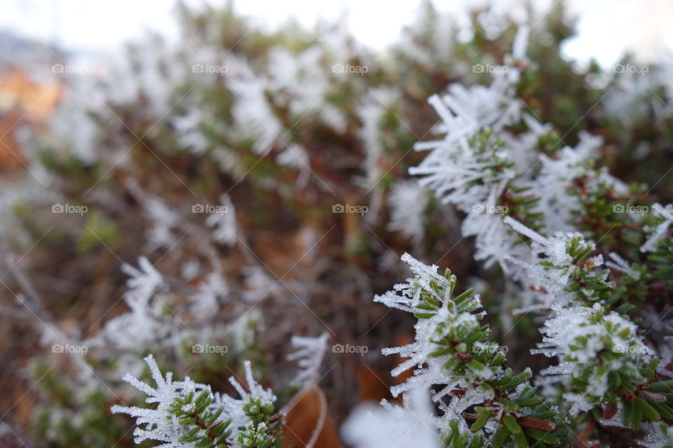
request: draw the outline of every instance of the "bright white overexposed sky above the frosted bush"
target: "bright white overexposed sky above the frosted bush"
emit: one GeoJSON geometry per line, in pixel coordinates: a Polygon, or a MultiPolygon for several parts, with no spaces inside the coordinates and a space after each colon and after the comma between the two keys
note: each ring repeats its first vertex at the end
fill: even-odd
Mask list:
{"type": "MultiPolygon", "coordinates": [[[[203,0],[187,0],[198,4],[203,0]]],[[[579,37],[566,45],[569,57],[586,61],[596,57],[609,66],[624,50],[637,50],[641,59],[670,57],[673,49],[673,1],[670,0],[560,0],[580,17],[579,37]]],[[[208,3],[224,4],[223,0],[208,3]]],[[[293,17],[306,26],[316,18],[335,20],[348,10],[351,31],[365,44],[381,48],[395,41],[420,0],[245,0],[236,9],[268,27],[293,17]]],[[[483,0],[435,0],[442,11],[460,13],[483,0]]],[[[518,0],[493,0],[498,10],[512,11],[518,0]]],[[[552,0],[533,2],[545,12],[552,0]]],[[[172,0],[0,0],[0,28],[57,42],[69,50],[109,50],[142,30],[154,29],[177,36],[172,0]]]]}

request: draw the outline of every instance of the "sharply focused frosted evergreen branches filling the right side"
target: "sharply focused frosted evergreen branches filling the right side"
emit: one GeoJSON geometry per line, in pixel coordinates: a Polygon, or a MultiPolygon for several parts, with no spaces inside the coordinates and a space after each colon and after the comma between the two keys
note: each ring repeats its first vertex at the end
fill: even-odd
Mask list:
{"type": "MultiPolygon", "coordinates": [[[[525,59],[522,38],[517,41],[525,59]]],[[[543,372],[547,398],[524,384],[530,370],[515,375],[501,367],[505,357],[494,356],[498,344],[487,341],[489,329],[479,324],[484,311],[474,312],[482,306],[478,297],[468,290],[451,299],[450,272],[439,276],[437,267],[409,255],[402,259],[416,277],[375,299],[420,319],[415,342],[383,351],[409,358],[394,375],[416,367],[393,395],[432,391],[437,432],[451,447],[569,444],[551,432],[569,424],[586,428],[587,417],[633,429],[646,422],[647,443],[664,446],[669,426],[650,423],[673,416],[673,372],[658,368],[658,354],[631,314],[649,290],[660,290],[653,280],[669,283],[669,208],[655,204],[653,216],[625,213],[625,205],[646,207],[637,190],[595,167],[602,140],[582,133],[575,148],[556,148],[562,138],[526,113],[517,97],[520,66],[505,73],[489,87],[451,85],[447,94],[430,97],[441,118],[435,132],[443,137],[416,144],[430,153],[409,172],[466,215],[461,230],[475,236],[475,258],[486,267],[497,262],[515,282],[510,294],[524,305],[515,311],[546,314],[543,343],[533,353],[559,360],[543,372]],[[639,246],[650,253],[646,263],[639,246]],[[471,420],[470,430],[484,437],[468,435],[471,420]]],[[[503,297],[505,306],[512,298],[503,297]]],[[[589,428],[595,435],[595,426],[589,428]]]]}

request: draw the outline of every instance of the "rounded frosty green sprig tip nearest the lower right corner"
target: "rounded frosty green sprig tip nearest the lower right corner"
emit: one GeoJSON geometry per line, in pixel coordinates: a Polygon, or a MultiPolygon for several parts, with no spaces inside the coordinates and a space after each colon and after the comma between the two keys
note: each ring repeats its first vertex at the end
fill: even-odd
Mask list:
{"type": "MultiPolygon", "coordinates": [[[[662,397],[646,391],[658,360],[637,335],[636,325],[616,312],[606,313],[600,304],[554,308],[555,317],[541,329],[544,338],[537,352],[559,356],[561,362],[548,373],[569,375],[570,390],[564,399],[573,403],[574,409],[587,411],[609,403],[636,403],[646,409],[649,402],[649,406],[661,405],[665,415],[671,414],[662,397]]],[[[607,414],[614,411],[616,407],[606,407],[607,414]]],[[[658,420],[654,414],[644,416],[658,420]]],[[[624,418],[625,426],[639,426],[640,421],[626,421],[626,414],[624,418]]]]}

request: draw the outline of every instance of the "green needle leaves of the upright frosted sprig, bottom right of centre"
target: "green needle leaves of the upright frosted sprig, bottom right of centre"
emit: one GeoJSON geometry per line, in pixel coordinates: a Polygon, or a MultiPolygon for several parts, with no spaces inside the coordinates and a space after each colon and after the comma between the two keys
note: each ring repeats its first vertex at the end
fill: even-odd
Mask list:
{"type": "MultiPolygon", "coordinates": [[[[573,252],[585,251],[580,241],[571,241],[569,247],[573,252]]],[[[403,259],[409,262],[407,255],[403,259]]],[[[417,297],[418,302],[412,301],[413,309],[422,310],[415,311],[414,316],[422,324],[416,327],[417,337],[419,331],[421,335],[428,332],[432,347],[428,362],[440,363],[448,381],[465,384],[450,395],[461,397],[474,389],[487,397],[482,403],[473,403],[475,413],[463,412],[473,420],[470,433],[480,434],[461,432],[457,421],[451,421],[440,436],[442,442],[449,447],[483,447],[482,430],[488,427],[491,446],[503,446],[508,441],[516,447],[569,444],[564,417],[538,394],[538,388],[528,385],[531,370],[515,374],[503,367],[506,352],[489,342],[489,325],[480,325],[484,313],[475,314],[481,303],[473,296],[474,290],[452,297],[457,279],[449,269],[442,276],[425,276],[419,267],[415,269],[417,276],[409,283],[407,294],[417,297]]]]}

